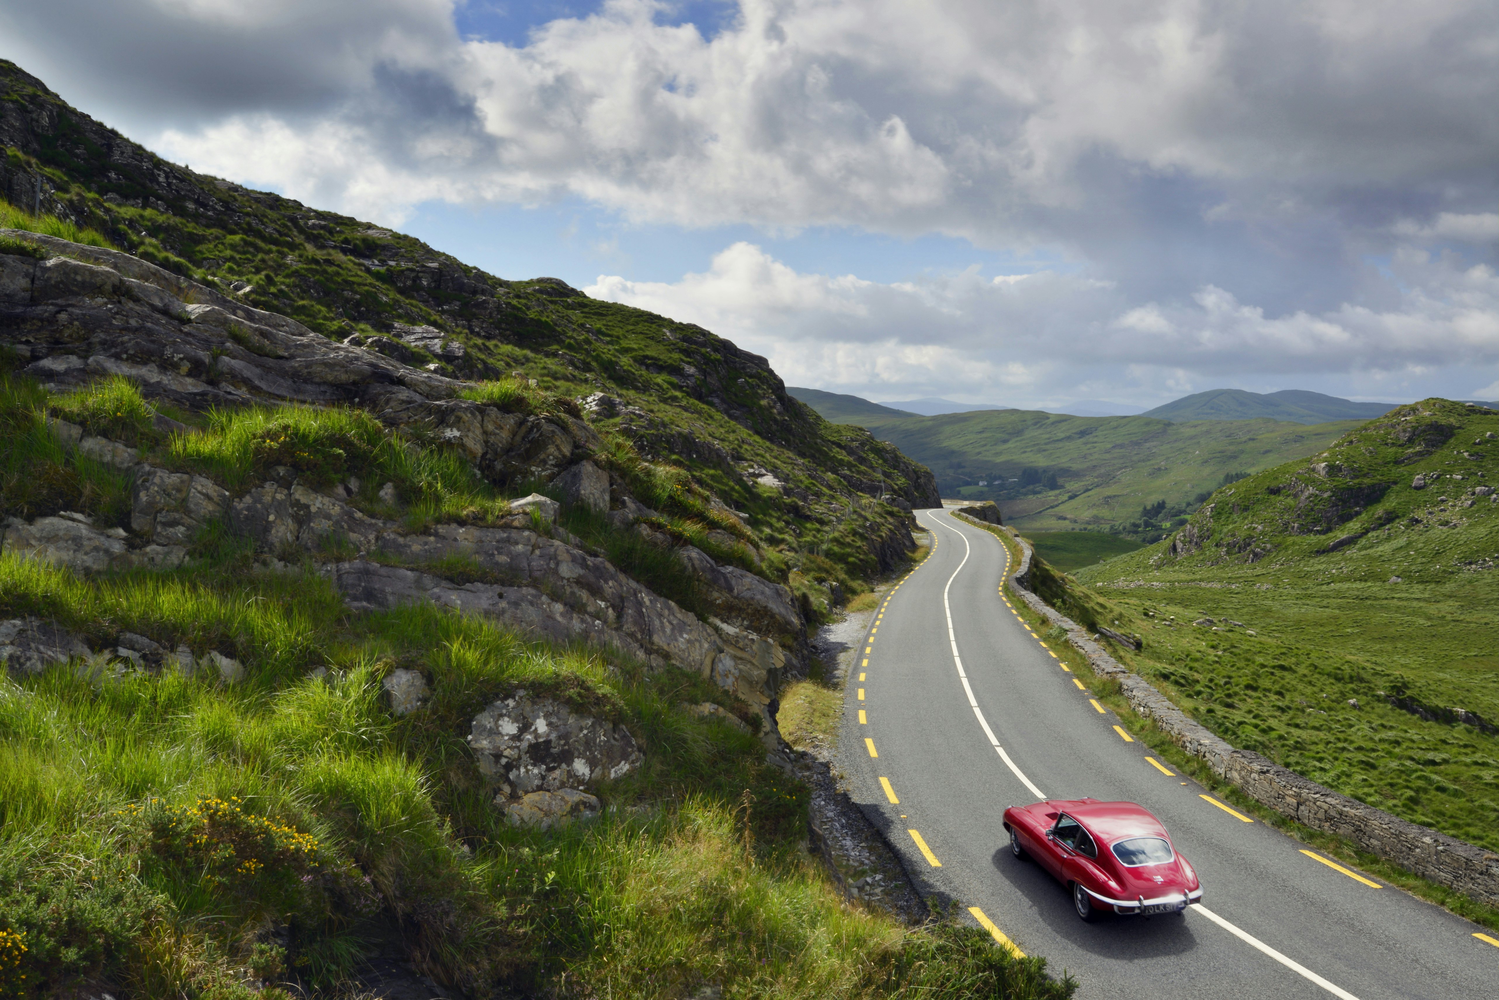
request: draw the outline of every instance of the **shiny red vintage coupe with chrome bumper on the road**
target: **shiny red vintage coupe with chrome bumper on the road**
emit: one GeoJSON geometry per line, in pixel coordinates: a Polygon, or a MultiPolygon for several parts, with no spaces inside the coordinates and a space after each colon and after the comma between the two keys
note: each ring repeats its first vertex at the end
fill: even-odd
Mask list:
{"type": "Polygon", "coordinates": [[[1133,802],[1045,801],[1004,810],[1016,858],[1034,858],[1072,892],[1084,921],[1115,913],[1180,913],[1202,900],[1198,873],[1166,828],[1133,802]]]}

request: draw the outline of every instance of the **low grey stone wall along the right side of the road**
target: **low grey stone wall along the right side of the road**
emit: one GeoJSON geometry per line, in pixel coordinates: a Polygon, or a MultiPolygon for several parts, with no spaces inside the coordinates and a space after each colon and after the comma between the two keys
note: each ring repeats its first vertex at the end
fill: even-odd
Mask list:
{"type": "Polygon", "coordinates": [[[1312,829],[1336,834],[1361,850],[1382,858],[1486,906],[1499,907],[1499,855],[1439,834],[1399,816],[1364,805],[1268,757],[1238,750],[1186,715],[1148,681],[1120,664],[1088,633],[1030,591],[1030,544],[1015,534],[1021,562],[1010,576],[1015,592],[1052,625],[1067,631],[1067,642],[1088,658],[1093,672],[1120,682],[1124,697],[1141,715],[1154,720],[1172,742],[1202,759],[1220,778],[1238,786],[1261,805],[1312,829]]]}

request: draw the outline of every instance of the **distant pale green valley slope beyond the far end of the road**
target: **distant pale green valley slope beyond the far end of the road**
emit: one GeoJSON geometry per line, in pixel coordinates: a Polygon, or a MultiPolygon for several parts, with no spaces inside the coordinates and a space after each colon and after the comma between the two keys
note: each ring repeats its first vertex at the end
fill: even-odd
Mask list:
{"type": "Polygon", "coordinates": [[[1028,531],[1103,529],[1139,519],[1157,499],[1192,504],[1223,474],[1280,465],[1324,447],[1352,421],[1319,426],[1271,420],[1175,424],[1148,417],[1066,417],[982,411],[943,417],[865,418],[863,426],[928,465],[943,496],[997,499],[1028,531]],[[1018,478],[1031,466],[1060,489],[995,490],[980,478],[1018,478]],[[1070,498],[1070,499],[1069,499],[1070,498]]]}

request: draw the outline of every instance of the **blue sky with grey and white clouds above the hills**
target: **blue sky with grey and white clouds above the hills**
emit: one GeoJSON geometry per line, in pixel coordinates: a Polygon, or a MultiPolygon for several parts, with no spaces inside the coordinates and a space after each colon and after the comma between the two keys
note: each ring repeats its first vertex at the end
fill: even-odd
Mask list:
{"type": "Polygon", "coordinates": [[[1493,0],[0,0],[0,55],[793,385],[1499,399],[1493,0]]]}

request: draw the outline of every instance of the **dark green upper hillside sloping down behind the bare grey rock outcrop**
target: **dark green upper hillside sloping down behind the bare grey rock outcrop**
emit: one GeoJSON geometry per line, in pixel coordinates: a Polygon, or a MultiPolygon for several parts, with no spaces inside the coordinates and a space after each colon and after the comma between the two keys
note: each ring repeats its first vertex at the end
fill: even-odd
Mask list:
{"type": "MultiPolygon", "coordinates": [[[[0,192],[13,205],[36,207],[40,180],[42,213],[96,229],[216,301],[360,348],[348,357],[366,367],[387,370],[376,358],[388,358],[448,379],[519,373],[553,396],[592,397],[595,430],[688,469],[744,511],[784,555],[782,573],[847,589],[908,546],[910,507],[938,502],[923,466],[862,429],[826,423],[785,393],[764,358],[706,330],[591,300],[556,279],[495,277],[411,237],[195,174],[3,61],[0,144],[0,192]]],[[[262,381],[261,397],[361,400],[357,381],[312,391],[288,378],[301,358],[274,357],[285,348],[238,346],[280,379],[262,381]]]]}

